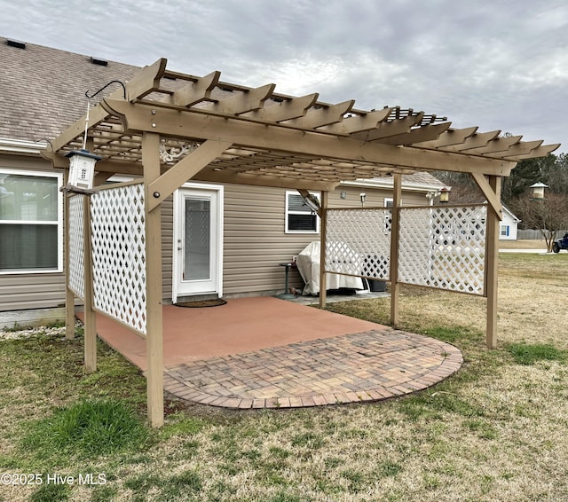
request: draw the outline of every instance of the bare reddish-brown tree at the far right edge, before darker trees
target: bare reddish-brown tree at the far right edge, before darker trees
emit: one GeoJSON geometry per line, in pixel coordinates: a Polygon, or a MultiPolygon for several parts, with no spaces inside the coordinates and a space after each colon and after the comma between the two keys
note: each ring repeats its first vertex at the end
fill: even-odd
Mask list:
{"type": "Polygon", "coordinates": [[[548,193],[546,199],[533,200],[519,197],[510,208],[523,221],[525,228],[540,231],[547,243],[548,253],[560,231],[568,229],[568,194],[548,193]]]}

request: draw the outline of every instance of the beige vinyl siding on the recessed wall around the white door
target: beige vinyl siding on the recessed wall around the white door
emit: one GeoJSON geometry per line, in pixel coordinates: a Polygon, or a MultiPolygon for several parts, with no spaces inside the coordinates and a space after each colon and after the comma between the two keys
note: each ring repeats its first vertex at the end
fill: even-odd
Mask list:
{"type": "MultiPolygon", "coordinates": [[[[285,269],[289,262],[319,233],[286,233],[286,190],[226,184],[224,200],[224,280],[225,296],[272,294],[284,290],[285,269]]],[[[359,193],[366,193],[366,208],[383,208],[392,197],[390,190],[341,186],[329,194],[330,208],[360,208],[359,193]],[[342,199],[341,192],[346,197],[342,199]]],[[[422,193],[403,193],[405,206],[424,205],[422,193]]],[[[172,201],[162,204],[163,297],[171,301],[172,201]]],[[[290,271],[290,286],[302,288],[304,281],[290,271]]]]}

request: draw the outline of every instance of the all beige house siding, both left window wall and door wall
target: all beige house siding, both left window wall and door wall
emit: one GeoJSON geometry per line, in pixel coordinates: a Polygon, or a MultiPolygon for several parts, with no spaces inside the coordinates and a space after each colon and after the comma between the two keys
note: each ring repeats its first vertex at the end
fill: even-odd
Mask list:
{"type": "MultiPolygon", "coordinates": [[[[36,157],[2,155],[0,167],[51,170],[36,157]]],[[[273,294],[284,289],[285,271],[279,263],[289,262],[319,233],[286,233],[286,190],[226,184],[224,195],[224,281],[226,296],[273,294]]],[[[366,193],[365,207],[383,207],[391,191],[340,186],[329,193],[330,208],[359,208],[359,193],[366,193]],[[345,192],[345,198],[341,197],[345,192]]],[[[403,192],[403,205],[423,205],[422,193],[403,192]]],[[[173,198],[162,202],[162,287],[164,302],[172,297],[173,198]]],[[[290,273],[290,286],[302,288],[297,271],[290,273]]],[[[65,302],[63,272],[0,275],[0,311],[52,308],[65,302]]]]}

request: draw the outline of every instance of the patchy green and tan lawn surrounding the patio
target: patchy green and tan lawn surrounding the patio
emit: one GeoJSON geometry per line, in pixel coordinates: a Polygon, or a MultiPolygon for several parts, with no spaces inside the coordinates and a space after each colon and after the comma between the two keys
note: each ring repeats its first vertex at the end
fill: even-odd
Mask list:
{"type": "MultiPolygon", "coordinates": [[[[500,255],[500,274],[492,351],[484,299],[403,290],[401,327],[454,343],[466,363],[376,404],[168,401],[152,430],[146,380],[104,344],[85,375],[80,336],[1,341],[0,500],[567,500],[568,254],[500,255]]],[[[389,300],[329,308],[386,323],[389,300]]]]}

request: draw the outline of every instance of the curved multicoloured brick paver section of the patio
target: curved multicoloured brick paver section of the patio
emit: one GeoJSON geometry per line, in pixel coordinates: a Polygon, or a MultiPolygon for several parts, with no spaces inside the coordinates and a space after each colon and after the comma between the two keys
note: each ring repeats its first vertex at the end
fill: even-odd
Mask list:
{"type": "Polygon", "coordinates": [[[462,364],[454,345],[384,328],[170,366],[164,389],[236,410],[369,403],[429,388],[462,364]]]}

